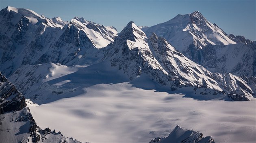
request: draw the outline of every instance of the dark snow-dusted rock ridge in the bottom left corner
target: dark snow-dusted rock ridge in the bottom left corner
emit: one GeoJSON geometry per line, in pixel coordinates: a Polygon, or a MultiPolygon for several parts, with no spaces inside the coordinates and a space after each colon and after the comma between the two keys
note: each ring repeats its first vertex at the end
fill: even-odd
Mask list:
{"type": "MultiPolygon", "coordinates": [[[[26,107],[25,98],[22,94],[15,88],[15,86],[5,78],[0,73],[0,115],[4,118],[0,120],[0,125],[5,120],[5,115],[7,119],[11,116],[11,120],[7,123],[12,124],[13,122],[26,122],[29,126],[27,128],[27,132],[24,134],[28,134],[29,137],[24,137],[20,142],[27,140],[29,142],[29,138],[34,143],[39,141],[47,140],[46,136],[52,137],[52,141],[60,142],[60,143],[80,143],[77,140],[73,140],[71,138],[63,137],[62,134],[56,134],[56,131],[51,131],[50,128],[46,128],[45,130],[41,130],[35,120],[33,119],[32,114],[29,111],[29,108],[26,107]],[[7,115],[8,114],[8,115],[7,115]]],[[[4,126],[8,126],[8,124],[4,124],[4,126]]],[[[19,126],[15,128],[20,128],[19,126]]],[[[26,127],[25,127],[26,128],[26,127]]],[[[26,129],[23,129],[24,131],[26,129]]],[[[8,130],[0,130],[4,132],[8,130]]],[[[14,135],[13,135],[14,136],[14,135]]]]}

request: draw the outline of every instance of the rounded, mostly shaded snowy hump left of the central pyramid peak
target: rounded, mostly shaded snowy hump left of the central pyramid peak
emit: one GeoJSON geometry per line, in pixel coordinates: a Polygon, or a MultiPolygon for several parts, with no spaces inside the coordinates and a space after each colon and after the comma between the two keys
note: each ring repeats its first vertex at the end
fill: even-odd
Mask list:
{"type": "Polygon", "coordinates": [[[54,63],[22,65],[22,67],[15,71],[9,80],[15,83],[27,99],[30,99],[37,104],[42,104],[60,98],[70,97],[75,91],[74,89],[59,89],[59,87],[71,80],[67,79],[54,85],[50,85],[48,81],[72,74],[82,67],[84,66],[67,67],[65,65],[54,63]]]}

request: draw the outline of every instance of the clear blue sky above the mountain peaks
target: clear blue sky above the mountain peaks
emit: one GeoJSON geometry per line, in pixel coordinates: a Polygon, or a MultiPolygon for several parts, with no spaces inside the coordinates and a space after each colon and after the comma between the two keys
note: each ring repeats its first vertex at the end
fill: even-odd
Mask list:
{"type": "Polygon", "coordinates": [[[228,34],[256,40],[256,0],[0,0],[0,8],[27,8],[48,18],[70,21],[75,16],[106,26],[118,32],[129,21],[152,26],[178,14],[200,11],[228,34]]]}

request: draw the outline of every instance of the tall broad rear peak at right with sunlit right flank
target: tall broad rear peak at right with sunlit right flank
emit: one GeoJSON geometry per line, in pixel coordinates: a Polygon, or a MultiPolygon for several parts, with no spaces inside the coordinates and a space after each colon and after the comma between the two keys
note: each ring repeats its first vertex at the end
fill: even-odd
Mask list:
{"type": "Polygon", "coordinates": [[[187,15],[177,15],[173,19],[152,27],[142,28],[147,34],[164,37],[180,52],[187,50],[190,44],[198,49],[208,44],[236,44],[217,25],[210,23],[202,14],[195,11],[187,15]]]}

